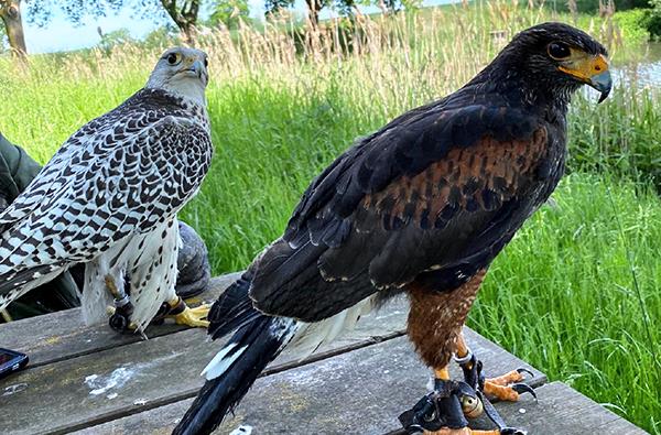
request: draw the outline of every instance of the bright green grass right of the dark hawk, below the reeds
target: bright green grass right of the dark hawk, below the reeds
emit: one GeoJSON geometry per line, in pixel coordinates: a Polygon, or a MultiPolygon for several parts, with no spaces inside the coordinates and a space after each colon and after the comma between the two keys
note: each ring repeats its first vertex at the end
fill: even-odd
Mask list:
{"type": "Polygon", "coordinates": [[[660,433],[659,198],[582,173],[554,198],[559,209],[544,206],[495,261],[469,325],[660,433]]]}

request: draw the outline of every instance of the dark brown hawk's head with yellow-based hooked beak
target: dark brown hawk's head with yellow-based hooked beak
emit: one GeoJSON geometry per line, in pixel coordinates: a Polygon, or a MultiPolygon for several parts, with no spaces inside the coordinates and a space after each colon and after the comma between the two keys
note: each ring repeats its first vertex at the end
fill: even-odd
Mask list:
{"type": "Polygon", "coordinates": [[[610,93],[608,52],[587,33],[571,25],[549,22],[517,34],[492,63],[505,75],[520,74],[530,85],[568,96],[586,84],[610,93]]]}

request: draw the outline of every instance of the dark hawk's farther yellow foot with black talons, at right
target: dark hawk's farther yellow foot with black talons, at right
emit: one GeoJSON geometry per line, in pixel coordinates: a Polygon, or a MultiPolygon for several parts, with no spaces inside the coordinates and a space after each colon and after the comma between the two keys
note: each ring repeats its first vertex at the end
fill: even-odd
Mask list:
{"type": "Polygon", "coordinates": [[[497,378],[485,379],[481,376],[481,361],[468,349],[463,333],[457,337],[455,355],[455,360],[464,370],[466,383],[474,389],[479,389],[485,394],[509,402],[518,401],[521,393],[530,393],[537,399],[534,390],[530,385],[521,383],[525,379],[524,373],[532,377],[532,372],[528,369],[520,368],[497,378]]]}

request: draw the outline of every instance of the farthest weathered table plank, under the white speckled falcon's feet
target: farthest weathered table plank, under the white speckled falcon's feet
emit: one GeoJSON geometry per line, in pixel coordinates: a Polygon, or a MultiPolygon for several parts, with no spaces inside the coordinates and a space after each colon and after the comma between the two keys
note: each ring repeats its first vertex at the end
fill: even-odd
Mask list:
{"type": "MultiPolygon", "coordinates": [[[[213,302],[240,272],[214,278],[209,289],[194,300],[213,302]]],[[[147,335],[159,337],[185,329],[164,324],[151,326],[147,335]]],[[[80,308],[66,309],[9,324],[0,324],[0,347],[18,350],[30,357],[30,367],[62,361],[82,355],[140,341],[139,335],[121,335],[107,324],[85,326],[80,308]]]]}

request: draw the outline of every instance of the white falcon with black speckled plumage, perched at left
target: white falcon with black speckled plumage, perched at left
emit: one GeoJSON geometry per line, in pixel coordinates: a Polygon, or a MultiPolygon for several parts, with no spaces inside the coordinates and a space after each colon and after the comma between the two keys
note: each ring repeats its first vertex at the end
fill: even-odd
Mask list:
{"type": "Polygon", "coordinates": [[[0,214],[0,309],[86,263],[87,324],[113,300],[119,329],[142,333],[158,313],[208,325],[208,307],[188,308],[174,290],[176,214],[212,160],[207,81],[204,52],[167,50],[144,88],[64,142],[0,214]]]}

